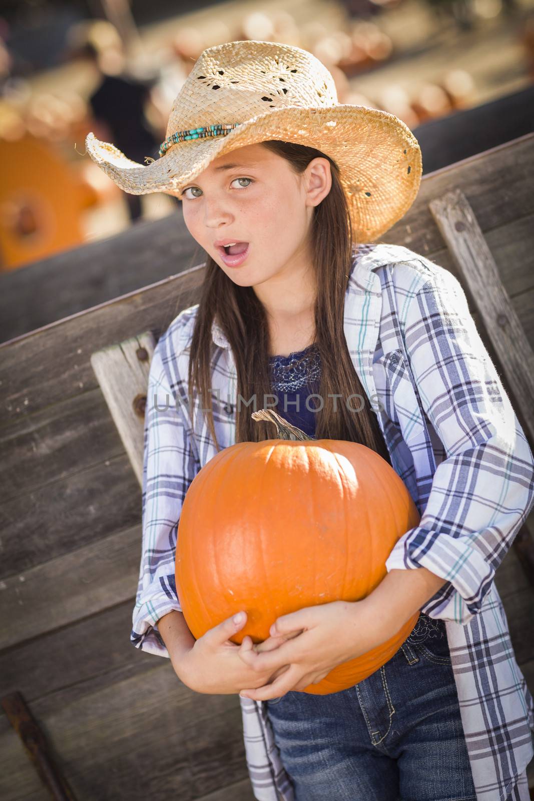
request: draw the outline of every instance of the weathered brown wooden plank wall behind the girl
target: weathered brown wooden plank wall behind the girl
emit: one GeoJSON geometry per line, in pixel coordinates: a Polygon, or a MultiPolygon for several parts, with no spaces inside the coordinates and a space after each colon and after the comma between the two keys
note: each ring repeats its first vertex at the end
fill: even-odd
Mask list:
{"type": "MultiPolygon", "coordinates": [[[[456,273],[428,203],[461,188],[534,346],[533,164],[527,135],[426,176],[383,240],[456,273]]],[[[171,242],[174,225],[173,215],[128,232],[135,259],[153,258],[151,226],[171,242]]],[[[0,695],[24,694],[78,801],[252,799],[239,698],[195,694],[167,659],[130,644],[141,495],[90,367],[106,344],[159,337],[196,302],[202,276],[186,269],[0,345],[0,695]]],[[[534,592],[513,550],[496,582],[534,688],[534,592]]],[[[3,714],[0,797],[49,797],[3,714]]]]}

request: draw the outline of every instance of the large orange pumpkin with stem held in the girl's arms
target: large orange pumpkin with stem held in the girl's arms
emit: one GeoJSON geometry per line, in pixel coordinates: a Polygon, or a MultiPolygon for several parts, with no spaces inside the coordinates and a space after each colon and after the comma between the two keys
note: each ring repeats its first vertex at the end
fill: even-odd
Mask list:
{"type": "MultiPolygon", "coordinates": [[[[269,637],[283,614],[332,601],[358,601],[379,585],[395,542],[420,522],[404,481],[375,451],[315,440],[272,409],[278,438],[240,442],[212,457],[183,501],[176,590],[196,639],[239,610],[240,644],[269,637]]],[[[411,633],[343,662],[300,692],[345,690],[379,670],[411,633]]]]}

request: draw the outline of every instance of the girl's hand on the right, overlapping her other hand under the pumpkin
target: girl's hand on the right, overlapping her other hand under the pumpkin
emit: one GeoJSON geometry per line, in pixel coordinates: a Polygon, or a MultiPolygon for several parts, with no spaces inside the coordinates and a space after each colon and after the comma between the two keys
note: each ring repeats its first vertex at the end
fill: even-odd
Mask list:
{"type": "Polygon", "coordinates": [[[258,674],[274,674],[287,666],[272,683],[243,689],[243,698],[266,701],[289,690],[318,684],[342,662],[354,659],[385,642],[392,632],[380,625],[363,601],[334,601],[306,606],[284,614],[271,626],[271,637],[253,645],[243,638],[239,657],[258,674]]]}

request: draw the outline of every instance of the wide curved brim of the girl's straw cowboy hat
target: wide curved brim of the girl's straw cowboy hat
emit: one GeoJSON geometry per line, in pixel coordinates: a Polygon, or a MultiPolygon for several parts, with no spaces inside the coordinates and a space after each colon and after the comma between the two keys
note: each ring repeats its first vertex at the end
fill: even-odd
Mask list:
{"type": "Polygon", "coordinates": [[[315,147],[337,163],[353,235],[373,241],[412,206],[423,173],[419,143],[395,115],[364,106],[287,106],[252,117],[228,135],[176,143],[154,162],[139,164],[93,133],[86,151],[126,192],[179,195],[218,156],[281,139],[315,147]]]}

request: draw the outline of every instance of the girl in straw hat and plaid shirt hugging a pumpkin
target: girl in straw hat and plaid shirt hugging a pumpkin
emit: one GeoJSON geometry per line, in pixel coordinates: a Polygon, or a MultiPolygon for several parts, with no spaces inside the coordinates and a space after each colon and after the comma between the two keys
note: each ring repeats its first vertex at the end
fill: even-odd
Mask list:
{"type": "Polygon", "coordinates": [[[408,127],[339,105],[305,50],[229,42],[191,70],[159,161],[92,134],[86,147],[126,191],[179,195],[207,252],[199,304],[151,362],[134,645],[192,690],[240,695],[260,801],[528,799],[532,699],[493,577],[534,501],[532,452],[456,278],[375,244],[420,185],[408,127]],[[274,438],[251,418],[273,399],[307,434],[389,461],[420,525],[363,601],[297,610],[237,646],[245,609],[195,640],[175,587],[183,499],[219,449],[274,438]],[[301,691],[417,610],[369,678],[301,691]]]}

